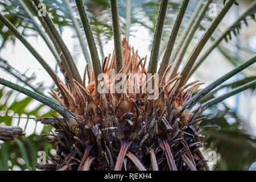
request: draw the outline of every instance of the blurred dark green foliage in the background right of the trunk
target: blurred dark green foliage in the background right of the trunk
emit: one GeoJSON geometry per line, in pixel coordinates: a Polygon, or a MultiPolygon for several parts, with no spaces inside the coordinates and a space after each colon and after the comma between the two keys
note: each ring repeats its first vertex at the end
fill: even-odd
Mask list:
{"type": "Polygon", "coordinates": [[[205,148],[217,151],[220,156],[214,170],[248,170],[250,164],[256,160],[256,138],[246,134],[245,122],[225,104],[213,106],[207,110],[207,119],[200,126],[218,125],[216,129],[204,129],[201,134],[205,135],[203,142],[205,148]],[[232,119],[232,123],[230,123],[232,119]]]}

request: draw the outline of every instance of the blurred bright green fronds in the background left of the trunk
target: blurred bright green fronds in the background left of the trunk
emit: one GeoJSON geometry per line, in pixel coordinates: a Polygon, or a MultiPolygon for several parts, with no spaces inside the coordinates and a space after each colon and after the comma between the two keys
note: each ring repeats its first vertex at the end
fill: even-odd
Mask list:
{"type": "MultiPolygon", "coordinates": [[[[30,97],[18,100],[16,92],[2,87],[0,89],[0,124],[8,126],[14,125],[15,123],[12,117],[17,117],[17,115],[18,117],[52,117],[50,113],[57,115],[54,110],[49,110],[42,114],[42,110],[47,110],[46,106],[43,104],[36,105],[35,102],[32,101],[33,99],[30,97]],[[27,111],[28,106],[33,109],[27,111]]],[[[31,120],[33,121],[34,119],[30,119],[30,121],[31,120]]],[[[19,118],[18,125],[16,126],[20,126],[20,124],[22,124],[20,122],[23,121],[20,121],[19,118]]],[[[28,123],[28,119],[26,122],[28,123]]],[[[14,166],[18,166],[22,170],[35,170],[38,151],[45,151],[46,156],[51,156],[49,150],[52,149],[52,146],[47,143],[47,138],[40,136],[40,134],[50,133],[52,126],[45,125],[40,134],[35,133],[36,126],[37,125],[35,125],[34,133],[30,136],[15,138],[14,141],[1,142],[0,170],[13,169],[14,166]]],[[[23,127],[22,129],[24,130],[23,127]]]]}

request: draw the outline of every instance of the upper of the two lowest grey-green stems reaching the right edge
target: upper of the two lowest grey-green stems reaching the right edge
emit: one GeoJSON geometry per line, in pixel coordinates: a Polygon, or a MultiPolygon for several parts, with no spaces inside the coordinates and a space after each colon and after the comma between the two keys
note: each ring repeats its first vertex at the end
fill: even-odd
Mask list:
{"type": "MultiPolygon", "coordinates": [[[[232,71],[226,73],[224,76],[218,78],[216,81],[212,82],[212,84],[205,87],[203,90],[195,94],[190,100],[188,100],[185,104],[188,104],[188,109],[192,109],[192,107],[199,101],[201,98],[203,98],[206,94],[208,94],[210,91],[212,91],[214,88],[216,88],[218,85],[222,84],[224,81],[228,80],[232,76],[236,75],[237,73],[241,72],[243,69],[249,67],[251,64],[254,64],[256,62],[256,56],[254,56],[252,59],[246,61],[239,67],[233,69],[232,71]]],[[[185,105],[184,104],[184,105],[185,105]]]]}

